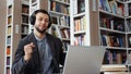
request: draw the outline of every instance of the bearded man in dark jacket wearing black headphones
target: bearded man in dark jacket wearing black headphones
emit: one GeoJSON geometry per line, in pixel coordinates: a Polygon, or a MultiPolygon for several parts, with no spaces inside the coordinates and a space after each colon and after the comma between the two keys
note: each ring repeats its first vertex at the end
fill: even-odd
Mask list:
{"type": "Polygon", "coordinates": [[[17,46],[12,74],[59,73],[64,55],[60,39],[46,33],[51,25],[50,15],[45,10],[36,10],[31,15],[34,30],[17,46]]]}

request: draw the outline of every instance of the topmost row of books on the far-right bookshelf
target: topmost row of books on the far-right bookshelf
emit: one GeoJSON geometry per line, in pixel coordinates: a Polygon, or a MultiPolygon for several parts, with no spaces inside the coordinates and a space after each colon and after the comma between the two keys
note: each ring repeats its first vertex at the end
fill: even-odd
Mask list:
{"type": "Polygon", "coordinates": [[[116,0],[98,0],[98,8],[104,11],[124,16],[123,3],[117,2],[116,0]]]}

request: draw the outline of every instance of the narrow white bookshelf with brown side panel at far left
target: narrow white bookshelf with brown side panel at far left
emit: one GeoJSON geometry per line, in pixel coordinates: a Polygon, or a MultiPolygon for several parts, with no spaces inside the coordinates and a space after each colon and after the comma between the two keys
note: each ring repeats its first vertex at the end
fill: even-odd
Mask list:
{"type": "Polygon", "coordinates": [[[7,0],[4,74],[11,74],[14,51],[20,40],[21,1],[7,0]],[[14,5],[15,4],[15,5],[14,5]]]}

